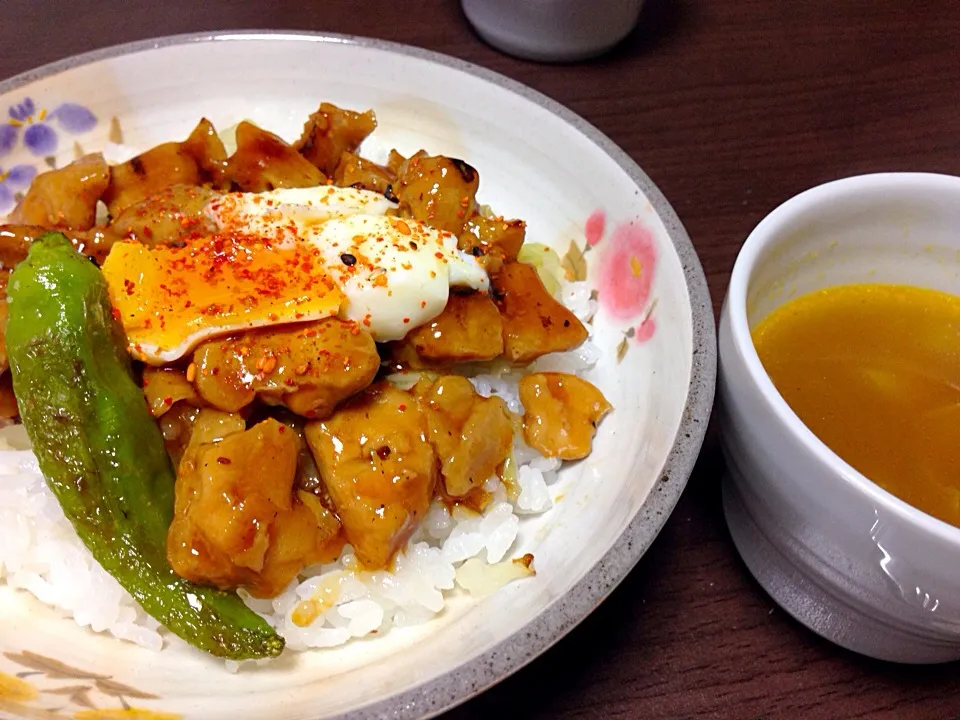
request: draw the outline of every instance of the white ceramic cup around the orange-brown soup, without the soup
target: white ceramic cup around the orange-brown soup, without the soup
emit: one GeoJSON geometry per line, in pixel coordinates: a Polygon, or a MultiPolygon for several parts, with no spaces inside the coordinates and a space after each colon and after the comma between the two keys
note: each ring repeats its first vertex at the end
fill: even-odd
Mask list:
{"type": "Polygon", "coordinates": [[[827,183],[781,205],[747,238],[720,322],[727,522],[760,585],[810,629],[884,660],[956,660],[960,529],[833,453],[777,392],[751,339],[791,299],[863,282],[960,295],[960,178],[827,183]]]}

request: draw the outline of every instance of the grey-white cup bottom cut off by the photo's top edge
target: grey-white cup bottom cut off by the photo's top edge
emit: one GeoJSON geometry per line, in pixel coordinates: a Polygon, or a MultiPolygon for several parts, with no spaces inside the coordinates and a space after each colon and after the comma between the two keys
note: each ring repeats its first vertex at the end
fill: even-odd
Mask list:
{"type": "Polygon", "coordinates": [[[462,0],[485,41],[530,60],[572,61],[600,55],[637,24],[643,0],[462,0]]]}

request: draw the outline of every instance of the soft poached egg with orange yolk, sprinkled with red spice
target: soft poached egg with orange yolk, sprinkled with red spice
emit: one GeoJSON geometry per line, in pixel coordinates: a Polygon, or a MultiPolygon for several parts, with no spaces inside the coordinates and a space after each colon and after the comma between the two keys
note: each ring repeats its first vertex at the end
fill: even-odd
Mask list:
{"type": "Polygon", "coordinates": [[[214,234],[115,244],[103,274],[131,354],[161,365],[212,337],[332,316],[399,340],[443,311],[451,286],[488,289],[456,237],[396,208],[333,186],[229,193],[204,209],[214,234]]]}

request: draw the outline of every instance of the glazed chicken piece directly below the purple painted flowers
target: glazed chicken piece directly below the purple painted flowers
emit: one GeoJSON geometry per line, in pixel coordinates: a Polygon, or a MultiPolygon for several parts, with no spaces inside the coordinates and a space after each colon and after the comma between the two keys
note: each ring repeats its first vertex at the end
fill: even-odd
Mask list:
{"type": "Polygon", "coordinates": [[[109,184],[110,166],[103,155],[84,155],[62,168],[37,175],[10,213],[10,222],[89,230],[97,219],[97,201],[109,184]]]}

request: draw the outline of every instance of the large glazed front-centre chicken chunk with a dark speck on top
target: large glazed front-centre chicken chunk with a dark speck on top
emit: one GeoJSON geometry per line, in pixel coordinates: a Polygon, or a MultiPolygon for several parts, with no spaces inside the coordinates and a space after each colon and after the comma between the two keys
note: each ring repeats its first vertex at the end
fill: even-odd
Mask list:
{"type": "Polygon", "coordinates": [[[423,520],[437,481],[427,418],[408,392],[377,384],[306,435],[348,542],[385,568],[423,520]]]}

